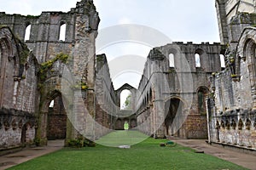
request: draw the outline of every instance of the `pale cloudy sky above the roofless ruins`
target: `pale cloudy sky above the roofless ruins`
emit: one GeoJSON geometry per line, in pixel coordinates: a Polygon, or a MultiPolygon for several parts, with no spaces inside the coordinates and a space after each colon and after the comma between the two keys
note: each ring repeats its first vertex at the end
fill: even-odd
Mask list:
{"type": "MultiPolygon", "coordinates": [[[[42,11],[67,12],[76,6],[76,2],[77,0],[0,0],[0,11],[23,15],[39,15],[42,11]]],[[[101,18],[99,30],[109,26],[133,24],[149,26],[165,34],[173,42],[220,41],[214,0],[94,0],[94,3],[101,18]]],[[[96,53],[107,54],[108,62],[114,64],[114,59],[124,55],[146,58],[151,48],[134,42],[123,42],[96,53]]],[[[141,73],[123,71],[112,75],[114,88],[119,88],[125,82],[137,88],[141,73]]]]}

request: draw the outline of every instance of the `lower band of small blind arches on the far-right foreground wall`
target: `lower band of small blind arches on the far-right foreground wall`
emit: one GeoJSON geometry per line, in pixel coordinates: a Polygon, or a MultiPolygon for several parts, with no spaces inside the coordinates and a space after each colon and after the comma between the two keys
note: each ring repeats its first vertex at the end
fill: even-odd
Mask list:
{"type": "Polygon", "coordinates": [[[255,111],[236,110],[212,117],[211,141],[255,150],[255,111]]]}

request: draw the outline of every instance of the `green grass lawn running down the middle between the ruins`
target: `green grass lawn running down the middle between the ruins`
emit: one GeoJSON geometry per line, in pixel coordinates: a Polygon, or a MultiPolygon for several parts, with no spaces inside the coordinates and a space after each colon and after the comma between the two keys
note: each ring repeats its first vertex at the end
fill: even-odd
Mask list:
{"type": "MultiPolygon", "coordinates": [[[[101,140],[102,143],[107,142],[109,144],[109,139],[113,139],[114,136],[115,138],[124,139],[124,144],[127,144],[125,143],[125,138],[134,137],[136,133],[137,136],[143,137],[141,133],[131,133],[133,135],[127,135],[127,132],[123,131],[110,133],[107,135],[107,139],[103,138],[101,140]]],[[[127,139],[130,140],[128,144],[131,142],[129,138],[127,139]]],[[[132,145],[131,149],[119,149],[102,145],[97,145],[95,148],[64,148],[55,153],[38,157],[9,169],[246,169],[214,156],[195,153],[194,150],[178,144],[172,147],[160,147],[160,143],[166,143],[166,141],[166,139],[148,138],[142,143],[132,145]]],[[[116,140],[113,140],[113,143],[117,144],[116,140]]]]}

